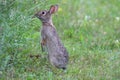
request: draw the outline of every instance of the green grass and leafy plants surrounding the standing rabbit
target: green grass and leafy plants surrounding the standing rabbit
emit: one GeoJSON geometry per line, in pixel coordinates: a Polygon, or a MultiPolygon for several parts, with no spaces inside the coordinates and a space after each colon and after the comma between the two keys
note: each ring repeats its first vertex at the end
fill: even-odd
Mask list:
{"type": "Polygon", "coordinates": [[[119,0],[0,1],[0,80],[119,80],[119,0]],[[70,56],[66,72],[40,48],[41,22],[32,16],[59,4],[53,16],[70,56]]]}

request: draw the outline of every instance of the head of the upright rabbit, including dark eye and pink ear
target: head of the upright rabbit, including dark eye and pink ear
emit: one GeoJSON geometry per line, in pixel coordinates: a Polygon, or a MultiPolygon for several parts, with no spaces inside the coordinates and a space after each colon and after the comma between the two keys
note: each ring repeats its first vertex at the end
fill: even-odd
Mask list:
{"type": "Polygon", "coordinates": [[[49,10],[39,11],[35,14],[42,22],[51,21],[51,15],[58,11],[58,5],[52,5],[49,10]]]}

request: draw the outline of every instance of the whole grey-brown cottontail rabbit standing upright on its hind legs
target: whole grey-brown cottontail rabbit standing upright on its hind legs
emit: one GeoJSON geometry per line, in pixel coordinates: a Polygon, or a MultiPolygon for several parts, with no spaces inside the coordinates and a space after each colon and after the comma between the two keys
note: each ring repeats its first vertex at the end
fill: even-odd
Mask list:
{"type": "Polygon", "coordinates": [[[52,23],[52,14],[57,12],[58,5],[52,5],[49,10],[39,11],[35,14],[42,22],[41,46],[46,46],[50,63],[60,69],[66,69],[68,52],[60,41],[52,23]]]}

